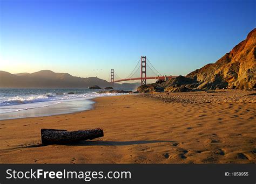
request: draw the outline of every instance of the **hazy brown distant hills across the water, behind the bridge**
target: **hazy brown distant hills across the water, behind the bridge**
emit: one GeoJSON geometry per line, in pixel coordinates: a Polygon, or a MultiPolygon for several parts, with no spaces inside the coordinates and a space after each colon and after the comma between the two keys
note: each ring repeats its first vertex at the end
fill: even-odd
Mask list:
{"type": "MultiPolygon", "coordinates": [[[[76,77],[51,70],[41,70],[31,74],[10,74],[0,71],[0,88],[87,88],[94,85],[102,88],[112,86],[111,83],[98,77],[76,77]]],[[[133,88],[133,84],[115,84],[116,88],[129,88],[129,86],[133,88]]]]}

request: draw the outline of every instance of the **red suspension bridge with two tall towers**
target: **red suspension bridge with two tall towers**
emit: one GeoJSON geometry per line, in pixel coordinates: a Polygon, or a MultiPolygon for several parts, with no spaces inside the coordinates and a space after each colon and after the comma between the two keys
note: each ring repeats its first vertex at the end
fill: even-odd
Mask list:
{"type": "MultiPolygon", "coordinates": [[[[147,79],[153,79],[153,80],[164,80],[166,81],[167,79],[175,78],[177,76],[166,76],[166,75],[161,75],[156,68],[151,64],[149,59],[147,59],[146,56],[141,56],[136,67],[132,70],[130,75],[128,75],[125,78],[121,78],[117,75],[114,69],[111,69],[110,71],[110,82],[111,83],[116,83],[116,82],[123,82],[123,81],[134,81],[134,80],[140,80],[141,84],[144,85],[146,84],[147,79]],[[140,63],[140,65],[139,65],[140,63]],[[140,77],[136,77],[136,73],[140,69],[140,77]],[[151,76],[147,76],[147,69],[150,69],[153,74],[151,76]]],[[[109,80],[108,80],[109,81],[109,80]]]]}

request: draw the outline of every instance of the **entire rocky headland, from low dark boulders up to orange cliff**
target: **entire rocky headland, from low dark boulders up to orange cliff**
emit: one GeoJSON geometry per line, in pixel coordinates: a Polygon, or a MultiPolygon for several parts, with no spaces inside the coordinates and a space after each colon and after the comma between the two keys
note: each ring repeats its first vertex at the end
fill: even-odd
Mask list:
{"type": "Polygon", "coordinates": [[[139,93],[256,88],[256,29],[217,62],[186,76],[138,87],[139,93]]]}

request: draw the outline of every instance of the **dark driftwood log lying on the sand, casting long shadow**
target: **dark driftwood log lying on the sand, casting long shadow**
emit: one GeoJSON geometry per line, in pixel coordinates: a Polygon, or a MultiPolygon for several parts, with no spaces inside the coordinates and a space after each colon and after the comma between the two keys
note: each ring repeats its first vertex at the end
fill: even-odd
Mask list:
{"type": "Polygon", "coordinates": [[[73,143],[87,139],[95,139],[103,136],[103,130],[100,128],[70,132],[67,130],[41,129],[42,144],[73,143]]]}

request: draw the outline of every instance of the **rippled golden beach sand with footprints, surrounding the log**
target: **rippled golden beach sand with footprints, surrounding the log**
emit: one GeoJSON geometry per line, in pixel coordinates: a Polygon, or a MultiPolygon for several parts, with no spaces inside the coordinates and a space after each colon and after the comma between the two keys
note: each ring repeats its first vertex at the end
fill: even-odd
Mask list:
{"type": "Polygon", "coordinates": [[[255,163],[251,91],[96,98],[92,110],[0,121],[0,163],[255,163]],[[104,137],[41,145],[40,130],[102,128],[104,137]]]}

